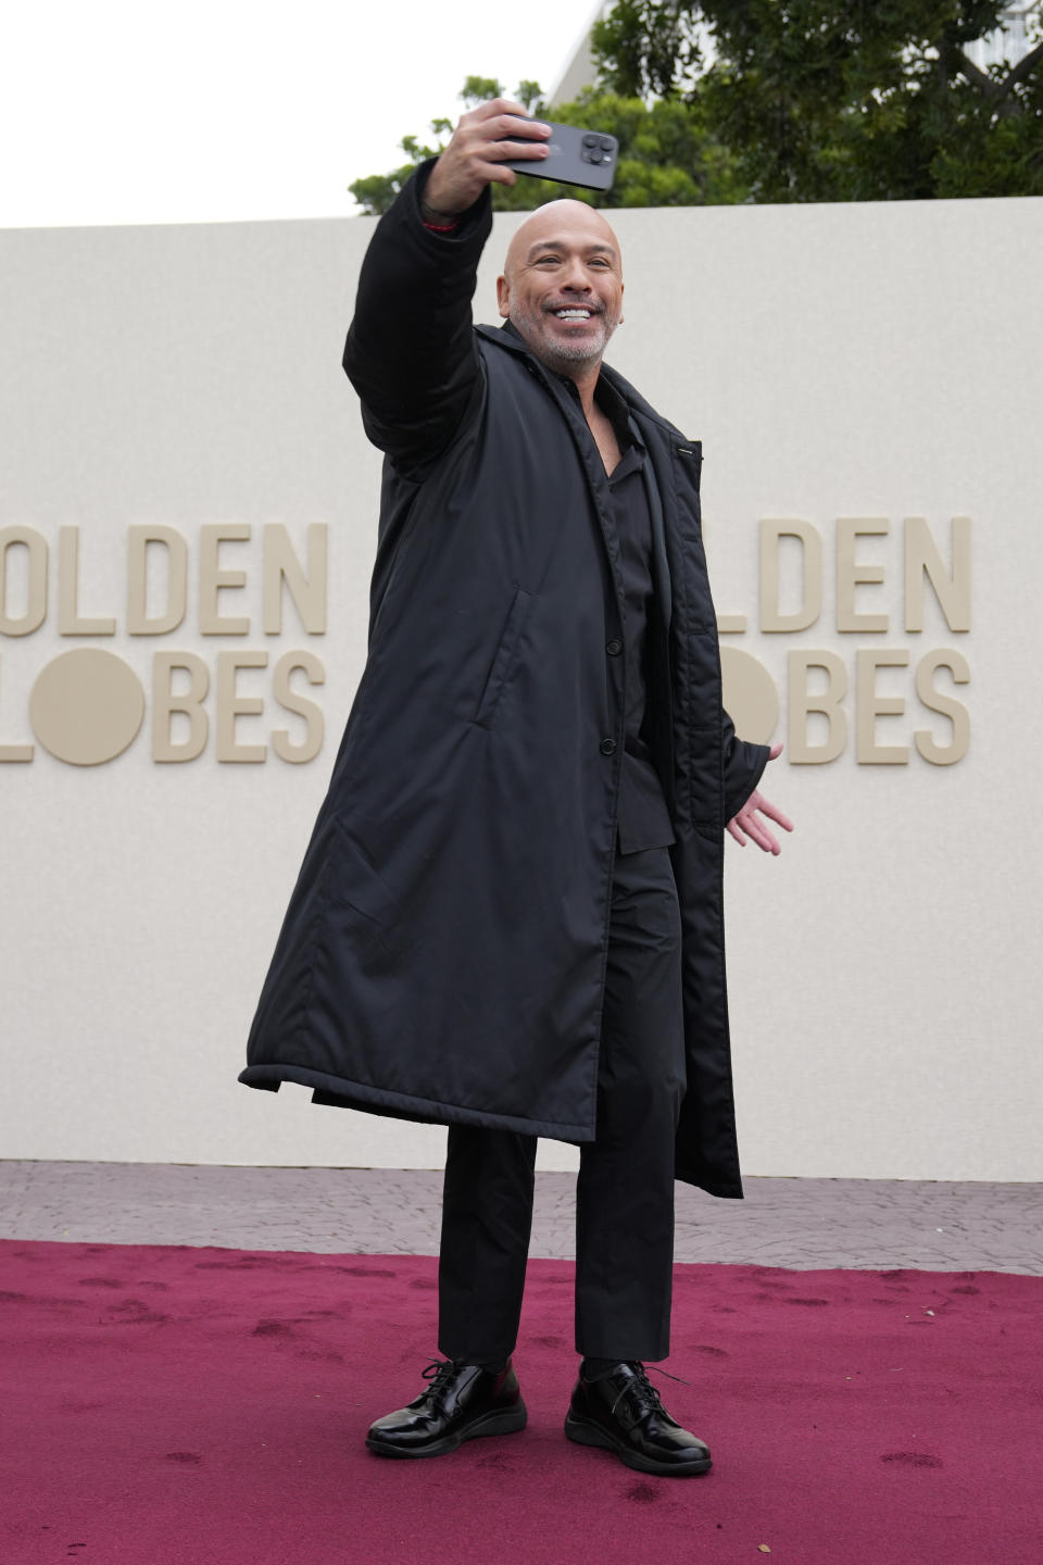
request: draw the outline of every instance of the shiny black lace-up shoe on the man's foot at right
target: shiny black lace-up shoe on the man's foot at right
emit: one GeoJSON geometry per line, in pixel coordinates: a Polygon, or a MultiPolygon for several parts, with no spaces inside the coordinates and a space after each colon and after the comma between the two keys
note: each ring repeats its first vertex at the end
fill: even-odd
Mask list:
{"type": "Polygon", "coordinates": [[[669,1416],[644,1365],[636,1362],[619,1363],[597,1380],[585,1380],[580,1373],[565,1432],[580,1446],[615,1451],[638,1473],[694,1477],[713,1465],[708,1448],[669,1416]]]}

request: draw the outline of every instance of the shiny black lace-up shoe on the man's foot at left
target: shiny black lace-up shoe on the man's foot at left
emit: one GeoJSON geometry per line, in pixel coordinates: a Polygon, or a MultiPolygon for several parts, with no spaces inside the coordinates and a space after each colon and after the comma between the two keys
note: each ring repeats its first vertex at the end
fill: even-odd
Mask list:
{"type": "Polygon", "coordinates": [[[510,1435],[525,1427],[525,1404],[508,1358],[499,1374],[480,1365],[436,1358],[414,1402],[371,1424],[366,1444],[382,1457],[441,1457],[477,1435],[510,1435]]]}

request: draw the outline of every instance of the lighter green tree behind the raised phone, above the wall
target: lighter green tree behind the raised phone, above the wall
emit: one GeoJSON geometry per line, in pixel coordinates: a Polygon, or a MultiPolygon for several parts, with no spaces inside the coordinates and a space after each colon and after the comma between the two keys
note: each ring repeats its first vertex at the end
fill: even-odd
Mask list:
{"type": "MultiPolygon", "coordinates": [[[[466,108],[504,88],[489,77],[468,77],[460,94],[466,108]]],[[[610,191],[586,191],[575,185],[519,177],[514,185],[493,186],[497,211],[532,211],[558,196],[572,196],[594,207],[701,207],[749,199],[749,188],[738,175],[738,160],[707,131],[699,105],[677,97],[646,105],[633,94],[586,89],[574,103],[555,105],[554,114],[536,81],[519,83],[514,94],[535,116],[554,117],[583,130],[610,131],[619,139],[616,178],[610,191]]],[[[432,121],[432,139],[403,136],[407,163],[389,174],[372,174],[349,186],[364,213],[388,210],[413,169],[438,156],[452,135],[452,122],[432,121]]]]}

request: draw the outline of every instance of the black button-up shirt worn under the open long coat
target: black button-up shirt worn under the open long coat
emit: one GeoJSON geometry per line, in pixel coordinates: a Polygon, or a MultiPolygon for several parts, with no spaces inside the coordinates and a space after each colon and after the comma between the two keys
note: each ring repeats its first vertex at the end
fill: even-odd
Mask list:
{"type": "MultiPolygon", "coordinates": [[[[568,385],[579,399],[575,383],[569,380],[568,385]]],[[[611,421],[619,444],[619,462],[608,474],[610,520],[619,548],[627,654],[624,756],[619,778],[619,851],[640,853],[643,848],[665,848],[674,842],[663,787],[652,765],[652,753],[643,737],[647,690],[647,624],[649,617],[655,612],[652,521],[643,476],[647,452],[630,423],[625,402],[604,377],[597,382],[594,399],[611,421]]],[[[608,646],[611,648],[613,643],[610,642],[608,646]]],[[[610,656],[613,656],[611,651],[610,656]]]]}

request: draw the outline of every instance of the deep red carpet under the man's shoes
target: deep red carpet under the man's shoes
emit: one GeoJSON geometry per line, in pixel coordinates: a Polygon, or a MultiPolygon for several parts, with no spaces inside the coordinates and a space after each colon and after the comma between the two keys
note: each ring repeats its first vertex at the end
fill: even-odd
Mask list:
{"type": "Polygon", "coordinates": [[[527,1430],[388,1462],[433,1260],[0,1243],[0,1562],[1043,1560],[1043,1279],[679,1266],[683,1482],[566,1443],[571,1285],[530,1265],[527,1430]]]}

